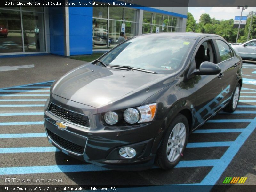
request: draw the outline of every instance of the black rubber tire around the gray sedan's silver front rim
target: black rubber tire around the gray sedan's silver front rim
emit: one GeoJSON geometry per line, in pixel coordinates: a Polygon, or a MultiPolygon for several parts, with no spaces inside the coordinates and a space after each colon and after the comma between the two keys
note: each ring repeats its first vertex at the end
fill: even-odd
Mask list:
{"type": "MultiPolygon", "coordinates": [[[[185,130],[186,130],[186,136],[184,135],[185,143],[184,143],[183,148],[181,150],[181,154],[183,153],[183,151],[186,148],[186,145],[188,143],[188,132],[189,132],[188,120],[184,115],[178,114],[175,118],[173,118],[172,123],[170,124],[170,126],[166,130],[164,138],[163,138],[162,143],[160,145],[160,148],[157,151],[156,164],[162,169],[172,169],[175,165],[177,165],[179,163],[179,161],[181,159],[181,154],[179,154],[179,156],[178,156],[178,152],[177,152],[176,149],[173,149],[173,150],[176,151],[176,153],[174,153],[174,154],[176,154],[175,156],[178,156],[178,158],[176,160],[173,159],[174,161],[170,162],[168,160],[168,157],[167,157],[168,156],[167,145],[170,144],[170,142],[168,140],[171,137],[171,133],[172,133],[173,128],[175,127],[175,125],[177,125],[179,123],[184,124],[185,125],[185,130]]],[[[170,154],[171,154],[171,151],[170,151],[169,155],[170,154]]]]}

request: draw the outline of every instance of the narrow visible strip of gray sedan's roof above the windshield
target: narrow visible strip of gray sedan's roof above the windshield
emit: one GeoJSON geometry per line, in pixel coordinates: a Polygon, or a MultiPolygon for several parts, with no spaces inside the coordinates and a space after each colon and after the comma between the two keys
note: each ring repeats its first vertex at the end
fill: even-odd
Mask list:
{"type": "MultiPolygon", "coordinates": [[[[163,32],[163,33],[148,33],[140,36],[166,36],[166,37],[183,37],[188,39],[200,39],[208,36],[221,37],[215,34],[207,34],[207,33],[193,33],[193,32],[163,32]]],[[[222,37],[221,37],[222,38],[222,37]]]]}

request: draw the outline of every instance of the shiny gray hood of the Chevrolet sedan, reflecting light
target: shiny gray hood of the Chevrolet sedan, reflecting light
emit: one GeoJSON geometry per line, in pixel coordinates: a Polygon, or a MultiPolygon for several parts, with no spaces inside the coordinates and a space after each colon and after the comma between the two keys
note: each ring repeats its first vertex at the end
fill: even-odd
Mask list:
{"type": "Polygon", "coordinates": [[[136,101],[141,104],[173,82],[173,78],[166,80],[166,76],[168,75],[105,68],[88,63],[73,69],[56,81],[52,94],[100,108],[139,93],[136,101]]]}

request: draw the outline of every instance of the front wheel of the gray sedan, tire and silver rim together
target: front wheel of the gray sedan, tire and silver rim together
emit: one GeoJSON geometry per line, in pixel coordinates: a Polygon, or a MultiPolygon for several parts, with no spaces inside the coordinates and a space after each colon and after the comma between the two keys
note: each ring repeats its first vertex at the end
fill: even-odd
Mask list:
{"type": "Polygon", "coordinates": [[[160,148],[156,163],[162,169],[171,169],[177,165],[188,143],[188,120],[178,114],[168,127],[160,148]]]}

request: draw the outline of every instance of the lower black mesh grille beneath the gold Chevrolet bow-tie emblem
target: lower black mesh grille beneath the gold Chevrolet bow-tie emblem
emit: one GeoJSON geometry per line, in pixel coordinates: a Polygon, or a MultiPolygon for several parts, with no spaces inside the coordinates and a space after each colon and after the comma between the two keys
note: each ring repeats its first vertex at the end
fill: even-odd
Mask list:
{"type": "Polygon", "coordinates": [[[51,132],[50,130],[47,130],[48,136],[55,142],[57,143],[60,147],[72,151],[74,153],[82,155],[84,153],[84,148],[83,146],[77,145],[75,143],[72,143],[66,139],[63,139],[62,137],[56,135],[55,133],[51,132]]]}

